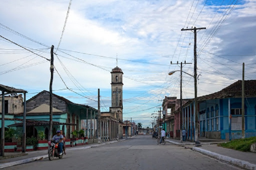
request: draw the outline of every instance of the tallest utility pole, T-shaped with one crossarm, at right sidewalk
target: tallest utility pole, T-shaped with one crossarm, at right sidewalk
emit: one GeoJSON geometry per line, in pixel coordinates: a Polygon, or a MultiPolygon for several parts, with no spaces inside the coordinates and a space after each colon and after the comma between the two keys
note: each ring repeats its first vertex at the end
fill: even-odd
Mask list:
{"type": "Polygon", "coordinates": [[[200,142],[198,141],[198,105],[197,105],[197,56],[196,56],[196,30],[205,30],[206,28],[191,28],[191,29],[181,29],[181,31],[193,31],[194,30],[194,86],[195,86],[195,112],[194,112],[194,116],[195,116],[195,124],[196,124],[196,129],[195,129],[195,143],[196,146],[200,145],[200,142]]]}

